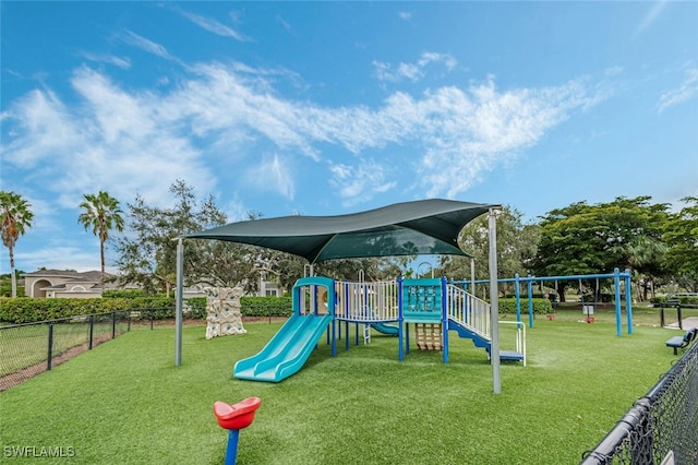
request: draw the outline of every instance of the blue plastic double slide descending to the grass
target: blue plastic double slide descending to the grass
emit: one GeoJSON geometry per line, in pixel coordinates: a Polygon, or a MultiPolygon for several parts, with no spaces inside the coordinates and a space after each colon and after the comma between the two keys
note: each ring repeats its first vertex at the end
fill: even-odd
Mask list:
{"type": "Polygon", "coordinates": [[[275,383],[290,377],[303,367],[332,319],[332,314],[293,313],[257,355],[238,360],[232,375],[275,383]]]}

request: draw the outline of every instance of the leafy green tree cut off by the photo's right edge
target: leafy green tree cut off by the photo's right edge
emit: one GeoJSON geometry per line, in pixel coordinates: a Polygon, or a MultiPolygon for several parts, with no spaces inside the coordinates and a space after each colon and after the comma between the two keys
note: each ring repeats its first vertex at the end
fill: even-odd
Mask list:
{"type": "Polygon", "coordinates": [[[666,222],[663,239],[667,242],[666,267],[675,279],[698,291],[698,198],[682,199],[686,204],[666,222]]]}

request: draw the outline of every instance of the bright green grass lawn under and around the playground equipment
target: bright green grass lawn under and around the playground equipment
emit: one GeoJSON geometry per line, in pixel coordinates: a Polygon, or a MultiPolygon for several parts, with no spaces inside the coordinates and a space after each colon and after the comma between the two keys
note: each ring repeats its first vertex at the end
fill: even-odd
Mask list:
{"type": "Polygon", "coordinates": [[[232,367],[280,323],[210,341],[184,327],[179,368],[172,326],[135,327],[0,393],[0,448],[72,448],[70,462],[84,464],[220,464],[228,434],[213,404],[254,395],[239,464],[576,464],[677,358],[664,346],[675,331],[624,325],[618,337],[613,315],[578,319],[538,315],[528,367],[503,363],[500,395],[485,351],[455,336],[447,365],[414,346],[399,362],[397,339],[377,333],[349,351],[342,341],[333,358],[323,338],[299,373],[270,384],[233,380],[232,367]]]}

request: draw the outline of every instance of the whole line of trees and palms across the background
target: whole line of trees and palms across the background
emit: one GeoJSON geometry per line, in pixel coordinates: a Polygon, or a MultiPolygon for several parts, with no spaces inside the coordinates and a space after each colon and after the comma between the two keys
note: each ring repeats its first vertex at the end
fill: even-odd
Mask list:
{"type": "MultiPolygon", "coordinates": [[[[148,294],[169,295],[177,278],[177,238],[228,222],[212,195],[197,199],[193,189],[178,180],[170,187],[171,207],[149,205],[136,195],[127,204],[107,192],[85,194],[79,223],[99,238],[105,271],[105,247],[111,241],[122,283],[139,284],[148,294]],[[112,238],[110,231],[123,233],[112,238]],[[113,240],[112,240],[113,239],[113,240]]],[[[647,299],[660,286],[698,291],[698,198],[682,199],[683,207],[651,203],[650,196],[616,198],[613,202],[577,202],[549,212],[538,223],[524,224],[516,208],[505,206],[497,218],[497,267],[501,277],[558,276],[611,273],[615,267],[633,273],[636,294],[647,299]]],[[[12,296],[16,296],[14,247],[31,227],[31,205],[14,192],[0,192],[2,241],[10,252],[12,296]]],[[[254,220],[262,214],[249,212],[254,220]]],[[[477,278],[489,276],[486,216],[467,225],[459,246],[474,258],[477,278]]],[[[337,279],[366,281],[410,276],[417,257],[332,260],[315,264],[317,274],[337,279]]],[[[470,278],[468,258],[443,255],[436,275],[470,278]]],[[[243,286],[258,289],[260,279],[276,281],[284,288],[306,273],[299,257],[257,247],[216,240],[188,239],[184,248],[184,286],[243,286]]],[[[558,294],[564,298],[565,286],[558,294]]],[[[586,283],[595,289],[595,283],[586,283]]]]}

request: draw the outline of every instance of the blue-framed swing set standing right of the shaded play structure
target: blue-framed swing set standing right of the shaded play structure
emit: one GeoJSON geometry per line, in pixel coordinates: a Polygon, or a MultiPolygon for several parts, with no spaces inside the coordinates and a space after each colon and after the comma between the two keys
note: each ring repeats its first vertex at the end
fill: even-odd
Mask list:
{"type": "MultiPolygon", "coordinates": [[[[569,275],[569,276],[531,276],[528,275],[526,277],[520,277],[518,274],[513,278],[504,278],[497,279],[497,284],[502,283],[514,283],[515,289],[515,298],[516,298],[516,321],[521,321],[521,295],[520,295],[520,285],[527,285],[527,296],[528,296],[528,321],[529,327],[533,327],[533,283],[544,283],[544,282],[558,282],[558,281],[579,281],[581,279],[613,279],[613,288],[615,296],[615,318],[616,318],[616,335],[623,335],[623,317],[622,317],[622,298],[621,298],[621,282],[624,283],[625,289],[625,309],[626,309],[626,318],[627,318],[627,333],[633,334],[633,299],[630,297],[630,271],[625,270],[621,272],[618,269],[615,269],[613,273],[607,274],[583,274],[583,275],[569,275]]],[[[480,281],[460,281],[454,282],[455,285],[462,286],[464,289],[470,288],[472,294],[474,293],[474,285],[490,285],[490,281],[480,279],[480,281]]],[[[598,286],[597,286],[598,288],[598,286]]],[[[597,300],[597,299],[594,299],[597,300]]],[[[585,305],[582,299],[582,308],[585,314],[588,317],[593,313],[593,306],[595,306],[595,301],[593,306],[591,303],[585,305]]]]}

